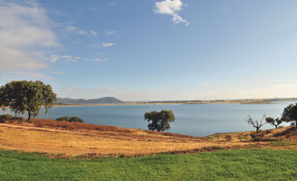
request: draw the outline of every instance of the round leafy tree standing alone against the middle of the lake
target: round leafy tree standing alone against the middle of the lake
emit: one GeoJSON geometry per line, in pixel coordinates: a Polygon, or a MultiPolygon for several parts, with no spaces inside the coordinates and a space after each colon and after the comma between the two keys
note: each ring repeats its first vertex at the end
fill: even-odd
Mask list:
{"type": "Polygon", "coordinates": [[[151,121],[149,130],[165,131],[171,128],[169,123],[174,123],[175,116],[171,110],[151,111],[144,114],[144,120],[151,121]]]}

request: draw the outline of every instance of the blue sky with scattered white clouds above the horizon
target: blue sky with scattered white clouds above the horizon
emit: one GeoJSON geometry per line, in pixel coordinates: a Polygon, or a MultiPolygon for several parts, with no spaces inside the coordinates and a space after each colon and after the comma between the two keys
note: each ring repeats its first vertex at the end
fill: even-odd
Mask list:
{"type": "Polygon", "coordinates": [[[0,0],[0,55],[59,97],[297,97],[297,1],[0,0]]]}

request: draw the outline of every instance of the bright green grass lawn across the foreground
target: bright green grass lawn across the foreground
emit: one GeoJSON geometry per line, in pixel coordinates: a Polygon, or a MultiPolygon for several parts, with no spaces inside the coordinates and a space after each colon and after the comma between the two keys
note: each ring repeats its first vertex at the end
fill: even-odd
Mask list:
{"type": "Polygon", "coordinates": [[[0,180],[297,180],[297,151],[64,160],[2,150],[0,180]]]}

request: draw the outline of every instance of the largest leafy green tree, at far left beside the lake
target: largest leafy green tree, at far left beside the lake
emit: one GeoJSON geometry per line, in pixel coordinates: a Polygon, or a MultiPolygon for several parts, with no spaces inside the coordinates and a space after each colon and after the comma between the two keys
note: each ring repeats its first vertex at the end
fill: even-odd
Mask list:
{"type": "Polygon", "coordinates": [[[28,112],[30,120],[31,116],[35,118],[39,116],[41,106],[45,107],[45,114],[48,108],[51,108],[57,95],[53,92],[50,85],[45,85],[42,81],[37,80],[14,80],[0,87],[0,107],[2,110],[10,108],[11,112],[24,114],[28,112]]]}

